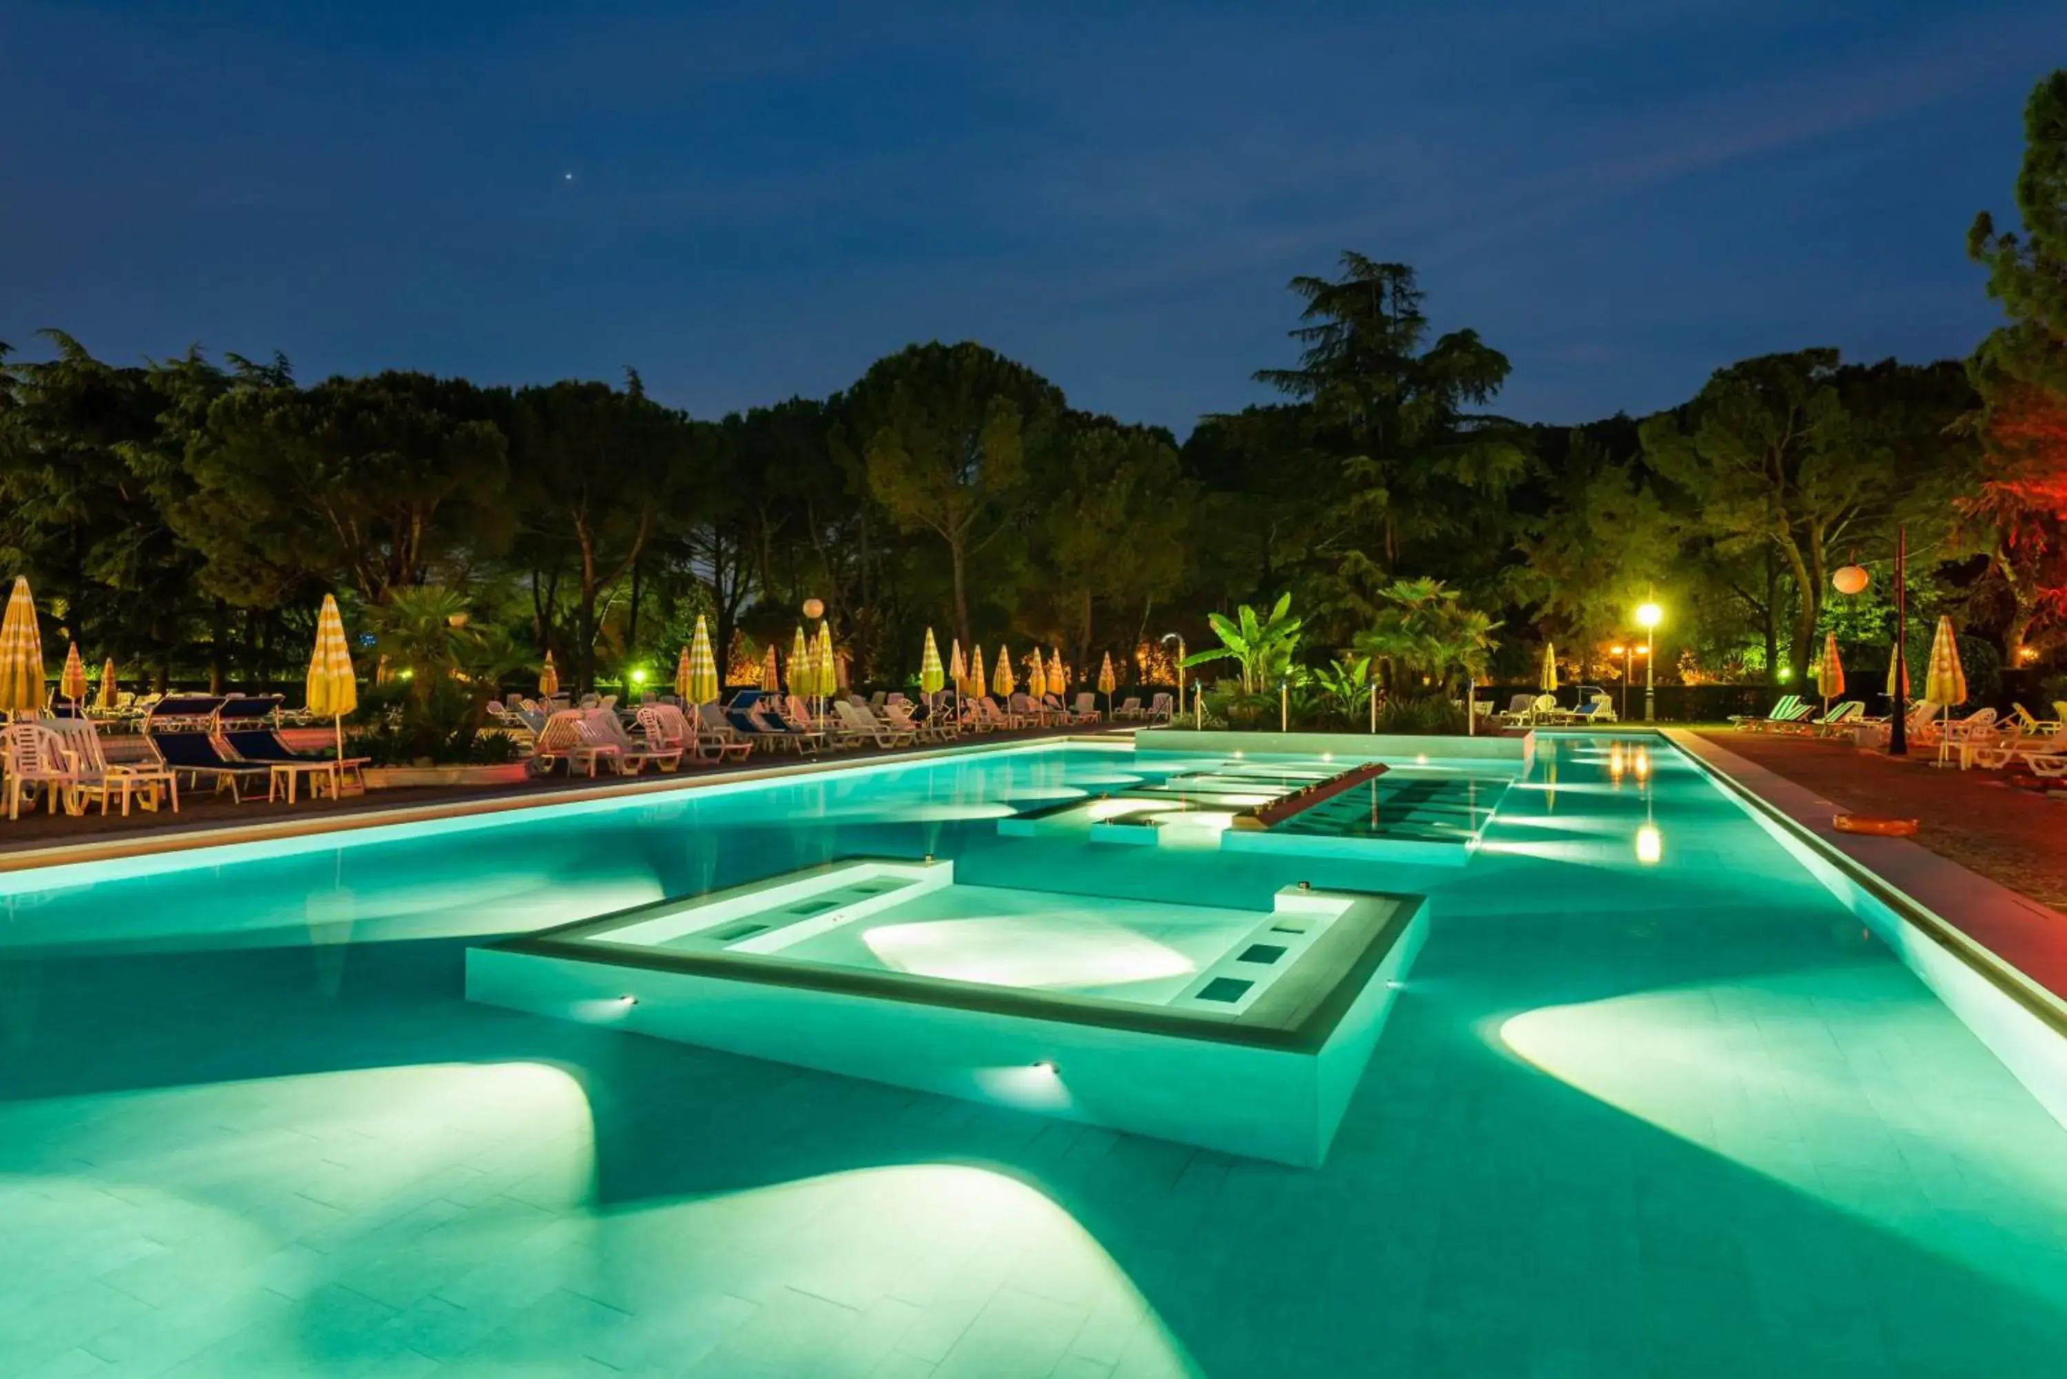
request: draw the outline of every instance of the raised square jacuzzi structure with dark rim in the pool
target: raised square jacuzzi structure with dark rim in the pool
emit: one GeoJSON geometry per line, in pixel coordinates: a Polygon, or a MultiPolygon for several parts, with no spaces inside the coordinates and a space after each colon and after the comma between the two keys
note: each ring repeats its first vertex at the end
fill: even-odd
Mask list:
{"type": "Polygon", "coordinates": [[[1317,1166],[1422,941],[1418,895],[1267,912],[854,858],[467,953],[467,997],[1317,1166]]]}

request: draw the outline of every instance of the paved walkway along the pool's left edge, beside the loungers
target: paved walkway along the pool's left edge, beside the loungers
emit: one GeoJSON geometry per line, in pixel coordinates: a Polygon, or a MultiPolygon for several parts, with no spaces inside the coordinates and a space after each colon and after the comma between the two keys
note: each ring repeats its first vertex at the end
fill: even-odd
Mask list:
{"type": "Polygon", "coordinates": [[[45,808],[23,810],[21,819],[6,821],[0,817],[0,858],[8,854],[43,850],[64,844],[101,844],[101,841],[149,841],[151,837],[172,837],[180,833],[200,833],[215,829],[232,829],[240,825],[277,825],[291,823],[298,819],[335,819],[349,815],[368,815],[397,808],[422,808],[440,804],[477,804],[477,802],[506,802],[506,800],[527,800],[535,798],[546,802],[554,796],[568,792],[593,792],[593,790],[651,790],[664,784],[692,784],[699,779],[711,779],[721,775],[740,775],[746,771],[769,771],[779,767],[796,765],[854,765],[864,761],[881,761],[887,757],[916,757],[924,753],[951,750],[957,746],[998,746],[1005,742],[1036,742],[1042,738],[1081,738],[1102,732],[1131,732],[1137,724],[1083,724],[1077,728],[1027,728],[1019,732],[988,732],[969,734],[957,742],[922,742],[918,746],[862,746],[839,753],[823,753],[816,757],[794,757],[794,755],[763,755],[754,753],[746,761],[723,761],[723,763],[697,763],[695,767],[682,767],[674,773],[645,771],[641,775],[544,775],[535,779],[525,779],[508,786],[413,786],[401,790],[370,790],[366,794],[347,796],[343,800],[312,800],[304,796],[296,804],[267,802],[260,794],[258,798],[246,796],[242,804],[234,804],[227,794],[215,794],[207,788],[180,790],[180,813],[169,810],[145,813],[134,808],[128,817],[124,815],[101,815],[91,810],[81,817],[70,817],[64,813],[52,815],[45,808]]]}

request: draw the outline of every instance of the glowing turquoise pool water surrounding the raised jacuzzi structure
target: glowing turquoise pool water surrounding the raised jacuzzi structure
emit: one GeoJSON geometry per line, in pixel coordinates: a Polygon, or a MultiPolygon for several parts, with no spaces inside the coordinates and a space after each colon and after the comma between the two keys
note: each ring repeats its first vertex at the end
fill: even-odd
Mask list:
{"type": "Polygon", "coordinates": [[[14,877],[0,1375],[2038,1375],[2067,1131],[1672,748],[1468,866],[1000,837],[1040,748],[14,877]],[[1321,1170],[461,999],[467,941],[847,854],[1428,895],[1321,1170]]]}

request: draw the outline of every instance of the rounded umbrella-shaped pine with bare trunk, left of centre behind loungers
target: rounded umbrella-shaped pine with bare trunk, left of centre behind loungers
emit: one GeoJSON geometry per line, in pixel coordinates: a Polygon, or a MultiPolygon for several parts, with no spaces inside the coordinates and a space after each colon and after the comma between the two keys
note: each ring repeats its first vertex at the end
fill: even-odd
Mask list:
{"type": "Polygon", "coordinates": [[[854,387],[868,492],[905,531],[947,546],[955,633],[969,635],[967,566],[1019,519],[1027,449],[1050,442],[1062,391],[982,345],[912,345],[854,387]]]}

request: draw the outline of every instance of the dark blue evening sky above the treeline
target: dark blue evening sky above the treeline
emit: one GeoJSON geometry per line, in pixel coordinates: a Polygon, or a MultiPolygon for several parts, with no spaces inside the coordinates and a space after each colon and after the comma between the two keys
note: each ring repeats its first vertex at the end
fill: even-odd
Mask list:
{"type": "Polygon", "coordinates": [[[980,339],[1184,432],[1356,248],[1573,422],[1769,349],[1966,354],[1964,234],[2059,62],[2059,0],[4,0],[0,339],[630,364],[697,416],[980,339]]]}

